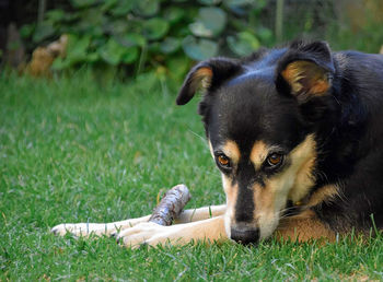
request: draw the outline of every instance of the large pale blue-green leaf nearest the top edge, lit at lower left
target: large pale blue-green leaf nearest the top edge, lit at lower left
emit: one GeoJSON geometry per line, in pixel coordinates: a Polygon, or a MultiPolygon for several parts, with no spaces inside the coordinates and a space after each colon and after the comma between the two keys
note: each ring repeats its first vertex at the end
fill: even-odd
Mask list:
{"type": "Polygon", "coordinates": [[[227,25],[227,14],[220,8],[201,8],[197,21],[189,25],[196,36],[212,37],[219,35],[227,25]]]}

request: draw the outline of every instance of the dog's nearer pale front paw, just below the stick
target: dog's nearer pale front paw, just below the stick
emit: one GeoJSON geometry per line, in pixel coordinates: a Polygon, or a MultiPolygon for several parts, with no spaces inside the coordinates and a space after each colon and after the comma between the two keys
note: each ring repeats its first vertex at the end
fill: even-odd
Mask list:
{"type": "Polygon", "coordinates": [[[141,245],[156,246],[159,244],[174,243],[176,226],[162,226],[153,222],[144,222],[132,228],[121,231],[116,234],[117,242],[137,248],[141,245]]]}

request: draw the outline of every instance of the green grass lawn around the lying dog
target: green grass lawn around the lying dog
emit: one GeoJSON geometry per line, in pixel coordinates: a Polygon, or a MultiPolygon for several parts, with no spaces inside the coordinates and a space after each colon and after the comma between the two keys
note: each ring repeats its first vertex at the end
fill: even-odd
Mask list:
{"type": "Polygon", "coordinates": [[[383,238],[320,245],[265,242],[119,247],[56,237],[63,222],[148,214],[160,189],[185,183],[188,207],[224,202],[197,101],[155,85],[0,78],[0,280],[383,279],[383,238]]]}

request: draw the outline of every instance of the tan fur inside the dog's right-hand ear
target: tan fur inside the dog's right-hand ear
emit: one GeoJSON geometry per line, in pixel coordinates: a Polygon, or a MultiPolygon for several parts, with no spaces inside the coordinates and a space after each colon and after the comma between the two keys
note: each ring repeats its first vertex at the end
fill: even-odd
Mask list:
{"type": "Polygon", "coordinates": [[[291,62],[281,74],[295,94],[309,93],[320,96],[330,86],[326,71],[310,61],[291,62]]]}

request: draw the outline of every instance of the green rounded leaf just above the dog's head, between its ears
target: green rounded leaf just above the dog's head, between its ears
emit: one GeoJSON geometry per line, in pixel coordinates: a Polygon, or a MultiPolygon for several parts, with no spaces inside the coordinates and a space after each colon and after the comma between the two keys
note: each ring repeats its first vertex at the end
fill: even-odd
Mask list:
{"type": "Polygon", "coordinates": [[[229,48],[239,56],[247,56],[257,50],[260,46],[259,40],[249,32],[242,32],[227,38],[229,48]]]}

